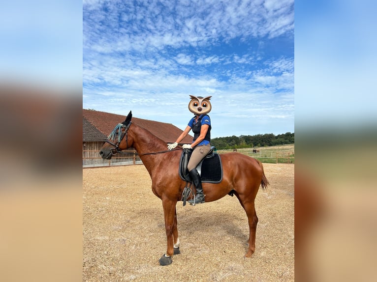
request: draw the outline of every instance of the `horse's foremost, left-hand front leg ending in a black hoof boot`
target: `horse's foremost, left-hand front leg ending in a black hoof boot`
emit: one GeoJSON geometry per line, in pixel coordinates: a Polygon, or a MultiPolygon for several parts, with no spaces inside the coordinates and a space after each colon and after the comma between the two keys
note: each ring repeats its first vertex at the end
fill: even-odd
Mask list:
{"type": "Polygon", "coordinates": [[[163,214],[165,218],[165,232],[167,239],[167,249],[166,254],[162,255],[159,259],[160,265],[169,265],[173,261],[171,256],[174,254],[174,235],[177,235],[178,242],[178,231],[177,231],[177,213],[176,213],[177,200],[162,199],[163,214]]]}

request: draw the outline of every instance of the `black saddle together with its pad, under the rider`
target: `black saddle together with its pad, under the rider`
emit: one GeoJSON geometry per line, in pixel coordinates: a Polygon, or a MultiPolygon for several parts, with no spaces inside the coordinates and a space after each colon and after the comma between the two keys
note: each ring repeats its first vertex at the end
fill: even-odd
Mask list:
{"type": "MultiPolygon", "coordinates": [[[[206,183],[220,183],[222,180],[222,165],[220,155],[214,152],[215,146],[211,146],[211,150],[207,156],[196,166],[200,178],[206,183]]],[[[192,149],[183,149],[181,161],[179,164],[179,176],[182,180],[191,182],[191,178],[188,174],[188,161],[192,154],[192,149]]]]}

